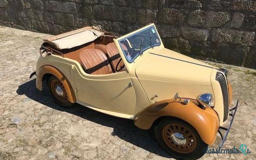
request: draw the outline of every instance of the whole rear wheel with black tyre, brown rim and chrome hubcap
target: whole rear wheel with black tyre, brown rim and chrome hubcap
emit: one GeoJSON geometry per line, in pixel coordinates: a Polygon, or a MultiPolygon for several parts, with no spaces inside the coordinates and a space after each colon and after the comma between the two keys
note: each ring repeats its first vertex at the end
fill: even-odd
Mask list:
{"type": "Polygon", "coordinates": [[[57,77],[49,77],[47,83],[50,95],[54,98],[55,102],[58,105],[61,105],[63,107],[71,107],[72,105],[74,105],[74,103],[69,102],[67,92],[63,84],[57,77]]]}

